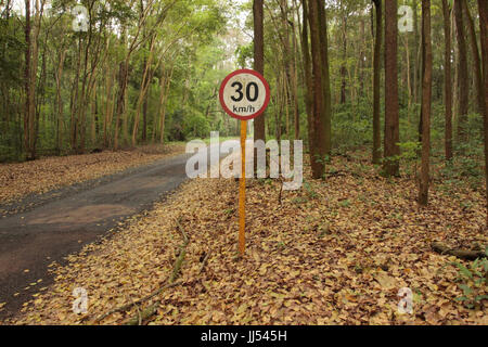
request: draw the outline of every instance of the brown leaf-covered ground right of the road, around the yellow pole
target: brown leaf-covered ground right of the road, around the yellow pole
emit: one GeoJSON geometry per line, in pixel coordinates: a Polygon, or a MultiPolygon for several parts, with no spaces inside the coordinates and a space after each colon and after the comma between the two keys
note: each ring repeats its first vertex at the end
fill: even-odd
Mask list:
{"type": "Polygon", "coordinates": [[[422,208],[414,180],[378,176],[363,152],[334,156],[328,171],[325,180],[312,180],[307,165],[303,189],[283,192],[281,204],[279,181],[248,180],[243,258],[239,183],[183,183],[117,234],[69,256],[68,265],[53,264],[54,284],[3,323],[121,324],[154,305],[142,323],[488,324],[483,307],[457,300],[463,294],[457,259],[431,248],[433,241],[487,243],[481,191],[434,182],[422,208]],[[172,286],[99,320],[165,288],[183,257],[172,286]],[[88,293],[86,314],[72,310],[77,287],[88,293]],[[402,287],[413,292],[411,314],[398,312],[402,287]]]}

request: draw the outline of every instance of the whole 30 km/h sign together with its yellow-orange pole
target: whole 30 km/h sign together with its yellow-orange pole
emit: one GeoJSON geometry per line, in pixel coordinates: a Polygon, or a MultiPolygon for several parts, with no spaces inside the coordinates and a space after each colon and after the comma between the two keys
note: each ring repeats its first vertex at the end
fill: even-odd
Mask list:
{"type": "Polygon", "coordinates": [[[229,116],[241,120],[241,180],[239,188],[239,254],[245,252],[246,226],[246,134],[247,120],[260,116],[270,100],[269,85],[253,69],[239,69],[227,76],[219,92],[220,104],[229,116]]]}

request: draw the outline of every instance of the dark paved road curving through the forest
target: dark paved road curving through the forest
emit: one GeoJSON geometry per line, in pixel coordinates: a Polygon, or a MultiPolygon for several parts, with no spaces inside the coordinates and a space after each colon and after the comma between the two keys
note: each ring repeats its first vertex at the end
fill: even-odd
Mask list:
{"type": "Polygon", "coordinates": [[[114,175],[94,188],[1,218],[0,304],[7,304],[0,323],[18,313],[33,294],[53,283],[48,273],[52,261],[66,264],[64,257],[106,235],[120,219],[151,208],[185,181],[190,156],[181,154],[129,169],[127,175],[114,175]]]}

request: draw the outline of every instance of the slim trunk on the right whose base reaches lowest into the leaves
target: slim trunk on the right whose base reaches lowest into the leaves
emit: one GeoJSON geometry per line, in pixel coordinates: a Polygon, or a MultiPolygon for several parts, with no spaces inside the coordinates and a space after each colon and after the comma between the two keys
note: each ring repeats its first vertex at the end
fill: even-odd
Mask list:
{"type": "Polygon", "coordinates": [[[432,106],[432,38],[431,0],[422,0],[422,168],[419,189],[419,204],[428,203],[429,157],[431,157],[431,106],[432,106]]]}

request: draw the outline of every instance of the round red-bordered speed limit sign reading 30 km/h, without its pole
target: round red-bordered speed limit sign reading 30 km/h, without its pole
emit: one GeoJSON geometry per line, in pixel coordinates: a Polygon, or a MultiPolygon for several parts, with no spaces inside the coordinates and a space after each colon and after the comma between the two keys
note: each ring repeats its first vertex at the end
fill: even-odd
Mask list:
{"type": "Polygon", "coordinates": [[[249,120],[268,107],[269,85],[261,74],[253,69],[239,69],[223,79],[219,99],[231,117],[249,120]]]}

